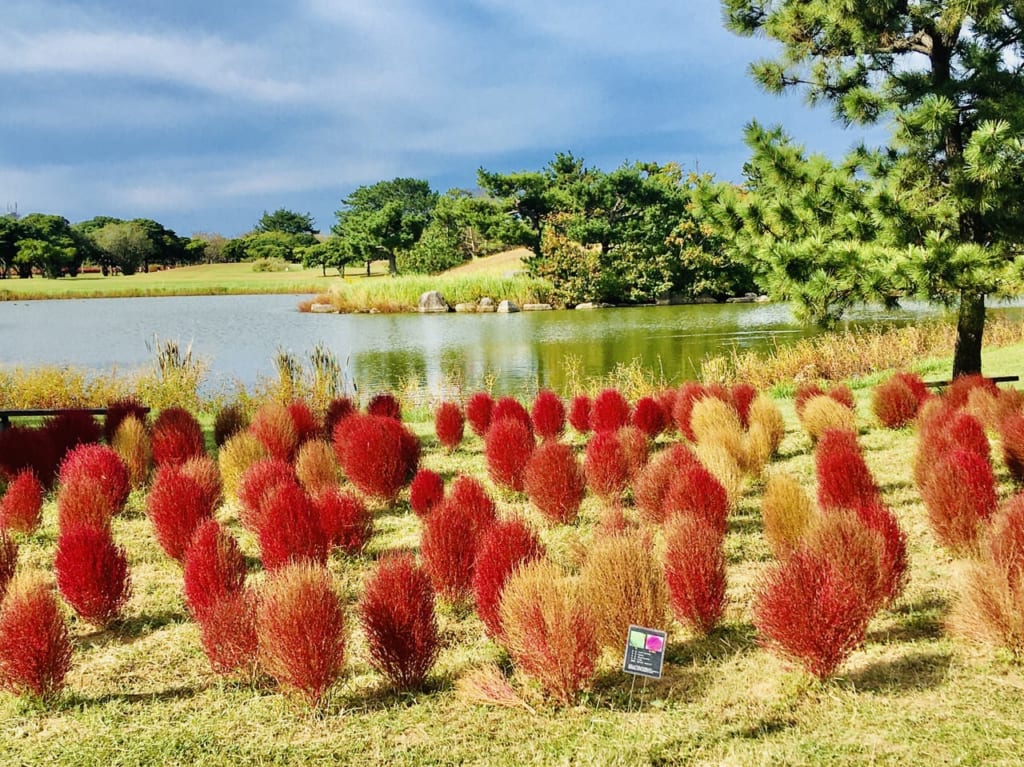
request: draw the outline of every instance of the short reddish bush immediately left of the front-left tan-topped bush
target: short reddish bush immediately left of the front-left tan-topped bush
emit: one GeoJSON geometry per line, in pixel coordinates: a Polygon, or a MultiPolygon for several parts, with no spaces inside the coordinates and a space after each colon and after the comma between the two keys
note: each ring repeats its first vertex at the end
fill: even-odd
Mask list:
{"type": "Polygon", "coordinates": [[[256,669],[256,592],[229,592],[196,615],[203,651],[217,674],[252,677],[256,669]]]}

